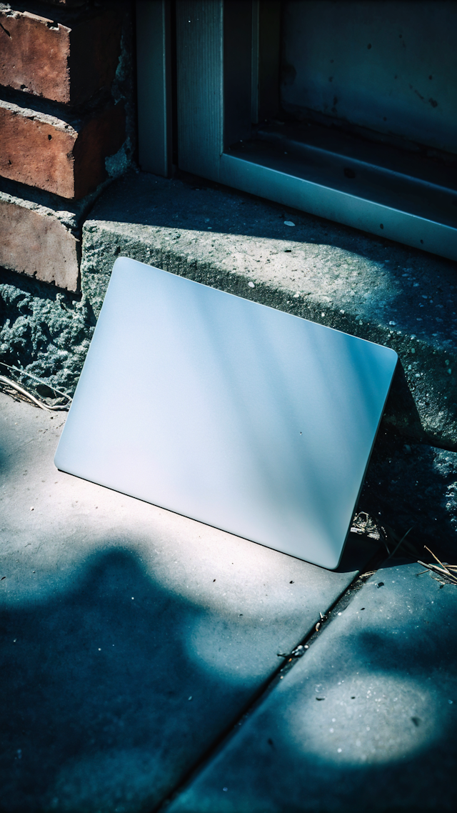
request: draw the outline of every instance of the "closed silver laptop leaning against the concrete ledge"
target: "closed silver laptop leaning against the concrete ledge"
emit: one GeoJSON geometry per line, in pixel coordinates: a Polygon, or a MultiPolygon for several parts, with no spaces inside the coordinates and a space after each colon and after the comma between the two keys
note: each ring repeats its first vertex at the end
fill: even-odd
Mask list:
{"type": "Polygon", "coordinates": [[[63,472],[337,568],[397,354],[125,257],[63,472]]]}

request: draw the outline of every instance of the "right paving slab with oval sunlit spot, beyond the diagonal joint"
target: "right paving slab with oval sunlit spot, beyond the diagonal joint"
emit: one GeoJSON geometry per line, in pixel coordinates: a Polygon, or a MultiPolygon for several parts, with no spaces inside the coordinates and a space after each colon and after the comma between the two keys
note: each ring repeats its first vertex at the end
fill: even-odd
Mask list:
{"type": "Polygon", "coordinates": [[[168,813],[452,811],[457,589],[385,567],[168,813]]]}

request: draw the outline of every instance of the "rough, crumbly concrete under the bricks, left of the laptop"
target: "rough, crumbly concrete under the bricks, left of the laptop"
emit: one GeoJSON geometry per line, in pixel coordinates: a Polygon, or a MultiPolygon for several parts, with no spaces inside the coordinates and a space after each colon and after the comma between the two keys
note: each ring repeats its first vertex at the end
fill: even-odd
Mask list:
{"type": "MultiPolygon", "coordinates": [[[[94,325],[85,299],[0,269],[0,361],[71,395],[94,325]]],[[[15,379],[40,394],[25,373],[15,379]]]]}

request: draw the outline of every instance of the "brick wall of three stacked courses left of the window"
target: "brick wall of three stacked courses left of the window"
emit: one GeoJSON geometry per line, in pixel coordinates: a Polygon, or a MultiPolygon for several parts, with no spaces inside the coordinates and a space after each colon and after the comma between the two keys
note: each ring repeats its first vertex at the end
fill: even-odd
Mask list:
{"type": "Polygon", "coordinates": [[[0,266],[68,291],[85,213],[132,159],[132,9],[0,3],[0,266]]]}

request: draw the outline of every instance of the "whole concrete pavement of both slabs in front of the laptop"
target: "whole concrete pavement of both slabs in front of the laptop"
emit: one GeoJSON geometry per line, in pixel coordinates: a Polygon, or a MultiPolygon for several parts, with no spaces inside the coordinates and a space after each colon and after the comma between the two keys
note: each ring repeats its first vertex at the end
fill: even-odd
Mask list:
{"type": "Polygon", "coordinates": [[[65,417],[0,393],[2,810],[453,809],[457,589],[58,472],[65,417]]]}

